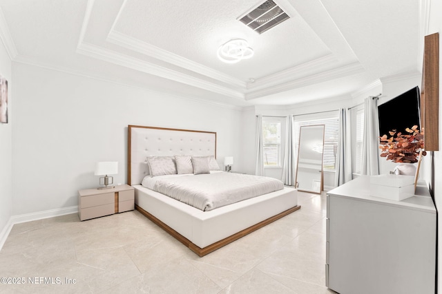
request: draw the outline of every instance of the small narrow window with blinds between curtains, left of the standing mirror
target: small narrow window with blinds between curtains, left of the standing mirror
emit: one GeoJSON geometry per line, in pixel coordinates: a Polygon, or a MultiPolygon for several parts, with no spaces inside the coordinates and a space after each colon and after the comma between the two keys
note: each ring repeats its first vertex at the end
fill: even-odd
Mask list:
{"type": "Polygon", "coordinates": [[[280,167],[281,162],[281,122],[262,121],[262,144],[265,167],[280,167]]]}

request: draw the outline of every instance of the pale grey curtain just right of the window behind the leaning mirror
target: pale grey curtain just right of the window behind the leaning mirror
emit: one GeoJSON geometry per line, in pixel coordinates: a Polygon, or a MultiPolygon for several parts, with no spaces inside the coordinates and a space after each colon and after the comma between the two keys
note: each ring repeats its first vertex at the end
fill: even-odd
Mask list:
{"type": "Polygon", "coordinates": [[[334,185],[338,187],[352,180],[352,144],[350,115],[347,108],[339,110],[339,141],[336,151],[336,174],[334,185]]]}

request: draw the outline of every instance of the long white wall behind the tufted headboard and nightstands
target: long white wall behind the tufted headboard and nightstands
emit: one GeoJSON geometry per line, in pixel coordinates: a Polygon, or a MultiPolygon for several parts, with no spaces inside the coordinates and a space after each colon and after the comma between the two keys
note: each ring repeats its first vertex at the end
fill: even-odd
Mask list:
{"type": "Polygon", "coordinates": [[[98,185],[98,161],[118,161],[114,182],[126,183],[128,125],[217,132],[220,167],[224,156],[240,158],[242,112],[233,107],[21,63],[12,76],[15,216],[77,205],[78,189],[98,185]]]}

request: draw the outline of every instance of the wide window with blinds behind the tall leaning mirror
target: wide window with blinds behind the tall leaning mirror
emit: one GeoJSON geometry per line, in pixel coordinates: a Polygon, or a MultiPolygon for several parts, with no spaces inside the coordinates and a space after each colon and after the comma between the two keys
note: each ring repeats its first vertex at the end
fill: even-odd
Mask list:
{"type": "Polygon", "coordinates": [[[326,112],[321,114],[323,118],[311,114],[305,116],[295,116],[294,121],[294,140],[296,155],[298,155],[299,133],[302,125],[325,125],[324,134],[324,154],[323,169],[325,171],[334,171],[336,167],[336,154],[338,151],[339,140],[339,118],[338,112],[326,112]],[[327,118],[328,116],[328,118],[327,118]]]}

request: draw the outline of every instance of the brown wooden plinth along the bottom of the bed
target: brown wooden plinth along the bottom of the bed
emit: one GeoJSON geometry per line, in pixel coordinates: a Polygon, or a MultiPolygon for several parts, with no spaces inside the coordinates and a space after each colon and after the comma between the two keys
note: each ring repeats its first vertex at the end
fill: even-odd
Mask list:
{"type": "Polygon", "coordinates": [[[184,236],[180,235],[180,233],[177,233],[177,231],[175,231],[174,229],[169,227],[167,224],[164,224],[164,222],[155,218],[155,216],[151,215],[151,213],[148,213],[147,211],[145,211],[144,209],[139,207],[137,204],[135,204],[135,209],[137,209],[137,211],[140,211],[140,213],[142,213],[142,215],[146,216],[146,218],[148,218],[149,220],[151,220],[152,222],[157,224],[158,227],[164,229],[164,231],[169,233],[173,238],[182,242],[182,244],[184,244],[186,247],[191,249],[191,251],[193,251],[194,253],[198,254],[200,257],[202,257],[206,254],[209,254],[209,253],[215,251],[216,249],[220,249],[222,246],[225,246],[235,240],[238,240],[239,238],[244,237],[244,235],[247,235],[249,233],[252,233],[253,231],[256,231],[262,227],[265,227],[265,226],[267,226],[267,224],[270,224],[271,222],[274,222],[275,220],[279,220],[280,218],[287,216],[288,214],[290,214],[294,211],[297,211],[300,208],[301,208],[300,205],[297,205],[296,207],[291,207],[291,209],[287,209],[286,211],[282,211],[281,213],[277,214],[276,216],[272,216],[271,218],[267,218],[267,220],[262,220],[262,222],[258,222],[258,224],[253,224],[253,226],[251,226],[247,229],[239,231],[238,233],[235,233],[235,234],[233,234],[227,238],[224,238],[218,242],[215,242],[209,246],[206,246],[204,248],[200,248],[200,247],[196,246],[195,244],[193,244],[187,238],[184,238],[184,236]]]}

